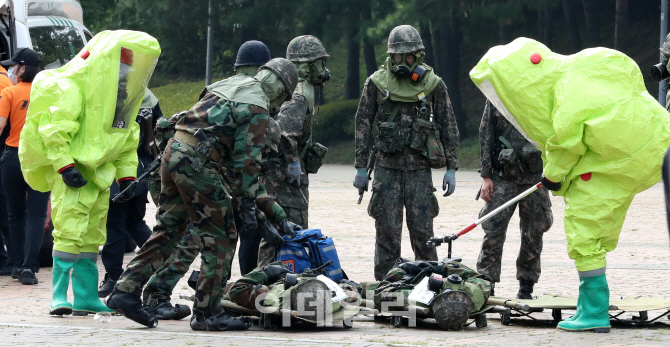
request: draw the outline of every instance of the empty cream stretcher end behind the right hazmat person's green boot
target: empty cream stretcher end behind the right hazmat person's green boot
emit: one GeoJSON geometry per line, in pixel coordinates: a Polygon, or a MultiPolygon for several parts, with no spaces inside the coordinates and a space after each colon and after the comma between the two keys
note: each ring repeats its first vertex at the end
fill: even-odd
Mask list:
{"type": "MultiPolygon", "coordinates": [[[[563,320],[564,310],[576,310],[577,299],[560,294],[545,294],[532,300],[507,299],[501,297],[490,297],[487,301],[489,305],[499,305],[510,309],[509,313],[500,314],[500,322],[503,325],[510,325],[512,318],[526,317],[534,321],[546,321],[534,317],[534,314],[551,310],[551,322],[558,324],[563,320]]],[[[621,300],[610,301],[610,321],[612,323],[624,323],[630,325],[649,325],[654,324],[664,316],[670,319],[670,300],[658,299],[645,296],[628,296],[621,300]],[[663,313],[649,318],[649,311],[661,310],[663,313]],[[624,313],[637,313],[631,319],[623,319],[624,313]]]]}

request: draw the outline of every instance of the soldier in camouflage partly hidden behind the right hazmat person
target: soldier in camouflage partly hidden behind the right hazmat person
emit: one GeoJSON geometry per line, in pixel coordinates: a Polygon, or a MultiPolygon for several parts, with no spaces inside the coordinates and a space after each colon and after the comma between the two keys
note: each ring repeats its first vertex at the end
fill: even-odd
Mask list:
{"type": "MultiPolygon", "coordinates": [[[[486,201],[479,213],[481,217],[540,182],[542,153],[489,101],[486,101],[479,126],[479,141],[484,179],[480,194],[486,201]]],[[[542,187],[517,204],[521,219],[521,249],[516,260],[517,298],[531,299],[533,286],[540,278],[542,237],[554,220],[549,191],[542,187]]],[[[500,282],[503,244],[517,204],[482,224],[484,241],[477,271],[491,277],[494,283],[500,282]]]]}

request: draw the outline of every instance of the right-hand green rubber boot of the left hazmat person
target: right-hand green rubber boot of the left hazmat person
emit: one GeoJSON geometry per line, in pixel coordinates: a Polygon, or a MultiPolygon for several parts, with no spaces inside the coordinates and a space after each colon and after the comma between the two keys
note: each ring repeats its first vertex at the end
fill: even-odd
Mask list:
{"type": "Polygon", "coordinates": [[[114,312],[98,297],[98,266],[93,259],[77,259],[72,271],[72,292],[74,292],[74,316],[89,313],[114,312]]]}

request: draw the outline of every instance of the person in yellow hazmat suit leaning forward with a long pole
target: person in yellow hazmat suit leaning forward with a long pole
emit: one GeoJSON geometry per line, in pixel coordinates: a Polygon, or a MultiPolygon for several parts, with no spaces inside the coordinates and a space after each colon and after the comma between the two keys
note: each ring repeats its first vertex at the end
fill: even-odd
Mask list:
{"type": "Polygon", "coordinates": [[[633,197],[661,177],[667,111],[647,92],[637,64],[607,48],[563,56],[518,38],[491,48],[470,78],[542,151],[542,183],[564,197],[580,285],[576,314],[558,328],[609,332],[605,256],[633,197]]]}

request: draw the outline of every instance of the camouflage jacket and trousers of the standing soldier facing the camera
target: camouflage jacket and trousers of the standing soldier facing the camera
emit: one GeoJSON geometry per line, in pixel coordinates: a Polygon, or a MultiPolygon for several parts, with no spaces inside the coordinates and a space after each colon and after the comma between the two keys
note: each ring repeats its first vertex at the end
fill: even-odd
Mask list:
{"type": "MultiPolygon", "coordinates": [[[[368,165],[373,125],[379,126],[389,118],[388,107],[380,106],[385,97],[368,78],[356,111],[356,168],[368,165]]],[[[439,140],[447,158],[447,168],[457,169],[458,127],[444,83],[440,82],[427,98],[432,103],[435,126],[441,134],[439,140]]],[[[411,128],[414,120],[420,117],[418,103],[397,104],[400,109],[395,122],[403,129],[411,128]]],[[[377,230],[374,272],[378,280],[400,257],[403,206],[416,260],[437,260],[435,248],[426,246],[426,241],[433,237],[433,218],[440,210],[431,169],[420,152],[407,144],[399,145],[402,150],[397,153],[377,151],[372,197],[368,206],[368,214],[375,219],[377,230]]]]}

